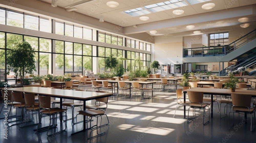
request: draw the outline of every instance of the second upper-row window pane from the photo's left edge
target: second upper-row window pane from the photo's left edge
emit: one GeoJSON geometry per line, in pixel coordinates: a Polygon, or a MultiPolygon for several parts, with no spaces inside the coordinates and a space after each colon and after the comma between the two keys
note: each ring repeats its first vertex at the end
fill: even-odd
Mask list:
{"type": "Polygon", "coordinates": [[[6,25],[23,28],[23,13],[6,10],[6,25]]]}

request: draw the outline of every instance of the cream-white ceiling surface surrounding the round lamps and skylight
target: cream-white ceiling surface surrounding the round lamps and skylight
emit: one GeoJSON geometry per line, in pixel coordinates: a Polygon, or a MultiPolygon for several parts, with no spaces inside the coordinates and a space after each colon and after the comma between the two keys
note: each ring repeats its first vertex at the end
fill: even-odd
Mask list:
{"type": "MultiPolygon", "coordinates": [[[[51,0],[40,1],[49,4],[51,3],[51,0]]],[[[71,5],[81,0],[57,1],[58,7],[64,8],[67,5],[71,5]]],[[[150,14],[145,15],[150,18],[147,21],[140,20],[140,16],[132,17],[123,11],[144,7],[155,3],[166,2],[167,0],[113,0],[119,3],[119,6],[116,8],[108,7],[106,3],[109,1],[111,0],[95,0],[86,4],[75,6],[77,8],[75,12],[96,19],[99,19],[102,15],[105,22],[122,26],[124,34],[147,32],[150,35],[168,34],[166,36],[181,37],[195,35],[193,31],[196,30],[201,31],[200,34],[232,31],[233,28],[240,27],[240,24],[242,24],[238,21],[238,18],[241,17],[248,17],[249,21],[246,23],[250,23],[250,26],[255,27],[256,25],[255,11],[253,11],[253,9],[246,11],[248,7],[242,7],[256,4],[256,0],[212,0],[209,1],[209,3],[215,3],[215,7],[209,10],[204,10],[201,8],[203,4],[208,2],[189,5],[188,1],[190,0],[184,0],[188,4],[188,6],[182,7],[184,14],[174,15],[172,11],[177,8],[155,13],[151,12],[150,14]],[[235,11],[239,11],[239,14],[236,14],[235,11]],[[196,20],[196,17],[199,17],[200,20],[196,20]],[[209,19],[209,17],[213,17],[213,19],[209,19]],[[217,25],[216,22],[218,21],[224,21],[223,25],[217,25]],[[133,25],[137,25],[137,28],[134,28],[133,25]],[[187,25],[194,25],[195,28],[187,29],[187,25]],[[151,34],[149,33],[151,30],[157,30],[158,32],[156,34],[151,34]]],[[[256,6],[254,5],[253,8],[255,7],[256,6]]],[[[73,13],[73,11],[71,12],[73,13]]]]}

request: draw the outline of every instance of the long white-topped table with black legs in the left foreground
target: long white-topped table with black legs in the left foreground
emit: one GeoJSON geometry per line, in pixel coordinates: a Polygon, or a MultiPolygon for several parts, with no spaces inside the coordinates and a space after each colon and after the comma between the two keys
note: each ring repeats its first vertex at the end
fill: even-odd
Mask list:
{"type": "MultiPolygon", "coordinates": [[[[27,93],[35,93],[43,96],[51,96],[60,98],[60,108],[62,109],[62,98],[64,99],[72,99],[72,100],[81,100],[83,101],[84,108],[86,107],[86,101],[110,97],[112,93],[99,93],[99,92],[87,92],[87,91],[76,91],[76,90],[63,90],[63,89],[54,89],[54,88],[44,88],[44,87],[20,87],[20,88],[8,88],[10,91],[17,92],[27,92],[27,93]]],[[[78,131],[76,133],[72,133],[71,135],[83,132],[86,130],[86,117],[83,117],[83,130],[78,131]]]]}

